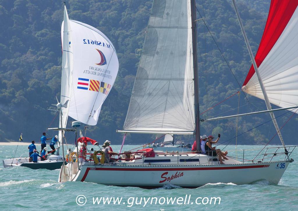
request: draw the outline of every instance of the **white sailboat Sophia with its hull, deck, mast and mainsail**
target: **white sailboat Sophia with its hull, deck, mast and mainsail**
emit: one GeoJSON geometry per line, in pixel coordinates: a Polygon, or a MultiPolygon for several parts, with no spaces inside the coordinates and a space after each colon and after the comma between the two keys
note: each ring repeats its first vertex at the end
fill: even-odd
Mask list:
{"type": "MultiPolygon", "coordinates": [[[[294,10],[298,12],[297,5],[294,10]]],[[[271,4],[268,20],[272,12],[276,11],[278,9],[275,10],[271,4]]],[[[284,8],[283,13],[287,13],[287,8],[284,8]]],[[[290,17],[293,22],[289,21],[296,31],[297,17],[294,13],[290,17]]],[[[153,1],[131,101],[123,130],[118,132],[193,134],[197,140],[196,148],[200,149],[195,23],[194,0],[153,1]]],[[[276,27],[279,27],[278,23],[276,27]]],[[[291,40],[294,40],[293,46],[296,46],[298,39],[291,40]]],[[[292,49],[292,60],[295,61],[297,49],[292,49]]],[[[283,58],[283,55],[279,55],[279,58],[283,58]]],[[[287,63],[282,64],[287,66],[287,63]]],[[[297,64],[298,62],[293,62],[291,65],[294,76],[298,75],[297,64]]],[[[282,75],[283,73],[280,74],[282,75]]],[[[252,84],[252,87],[247,83],[247,90],[253,86],[257,86],[257,82],[252,84]]],[[[293,90],[291,87],[289,94],[293,90]]],[[[292,100],[295,100],[295,97],[292,100]]],[[[292,104],[298,103],[292,101],[292,104]]],[[[121,153],[121,158],[115,159],[112,163],[98,163],[94,158],[78,167],[69,162],[64,168],[66,173],[63,174],[63,167],[61,168],[59,182],[82,181],[145,188],[165,184],[194,188],[218,182],[240,185],[262,179],[277,184],[288,164],[294,161],[289,158],[294,147],[285,148],[286,152],[280,149],[283,150],[283,147],[276,147],[273,152],[272,148],[266,148],[260,159],[253,160],[246,160],[245,150],[242,150],[243,159],[228,157],[224,164],[219,164],[217,157],[200,151],[169,153],[147,148],[121,153]]]]}

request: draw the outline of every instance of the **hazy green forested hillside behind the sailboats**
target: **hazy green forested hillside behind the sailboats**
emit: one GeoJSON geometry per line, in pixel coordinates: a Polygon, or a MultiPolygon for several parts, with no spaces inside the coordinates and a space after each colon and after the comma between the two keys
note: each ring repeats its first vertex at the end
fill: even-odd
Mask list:
{"type": "MultiPolygon", "coordinates": [[[[65,0],[64,0],[65,1],[65,0]]],[[[152,1],[147,0],[70,0],[66,1],[69,18],[102,31],[114,44],[119,58],[116,82],[103,104],[96,126],[87,128],[86,136],[99,142],[109,139],[120,144],[117,134],[125,120],[134,77],[138,67],[152,1]],[[128,11],[129,5],[130,9],[128,11]],[[127,17],[125,19],[126,12],[127,17]],[[124,21],[125,19],[125,21],[124,21]]],[[[255,53],[263,34],[270,1],[238,0],[238,9],[255,53]]],[[[251,65],[249,54],[230,0],[197,0],[199,13],[218,47],[242,85],[251,65]]],[[[56,103],[61,88],[61,23],[63,1],[0,0],[0,141],[38,140],[46,128],[57,127],[56,113],[47,107],[56,103]]],[[[198,62],[200,68],[200,111],[216,105],[240,90],[231,70],[204,26],[198,21],[198,62]]],[[[259,99],[240,94],[239,113],[265,110],[259,99]]],[[[238,95],[204,112],[201,118],[237,114],[238,95]],[[223,113],[224,112],[224,113],[223,113]]],[[[53,107],[51,107],[53,108],[53,107]]],[[[286,111],[276,112],[279,116],[286,111]]],[[[291,112],[277,118],[282,126],[291,112]]],[[[201,123],[201,134],[222,134],[222,141],[236,133],[236,118],[201,123]]],[[[270,120],[268,113],[241,117],[238,135],[270,120]]],[[[69,123],[72,119],[69,119],[69,123]]],[[[297,143],[297,115],[282,129],[286,144],[297,143]]],[[[46,131],[51,137],[55,133],[46,131]]],[[[271,122],[238,137],[238,144],[266,143],[276,133],[271,122]]],[[[69,136],[71,139],[73,135],[69,136]]],[[[126,143],[145,143],[155,135],[128,134],[126,143]]],[[[184,142],[193,137],[178,137],[184,142]]],[[[229,143],[229,141],[227,142],[229,143]]],[[[278,137],[270,143],[279,144],[278,137]]],[[[231,140],[235,144],[235,139],[231,140]]]]}

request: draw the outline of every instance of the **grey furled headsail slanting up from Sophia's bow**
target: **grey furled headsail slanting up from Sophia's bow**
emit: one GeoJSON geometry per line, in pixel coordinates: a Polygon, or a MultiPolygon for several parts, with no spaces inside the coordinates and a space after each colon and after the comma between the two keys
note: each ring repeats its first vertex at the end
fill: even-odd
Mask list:
{"type": "MultiPolygon", "coordinates": [[[[249,45],[249,41],[247,39],[247,36],[246,36],[246,33],[245,33],[245,30],[244,30],[244,27],[243,27],[243,23],[242,23],[242,20],[240,18],[240,15],[239,15],[239,12],[238,12],[238,9],[237,9],[237,6],[236,6],[236,3],[235,3],[235,0],[232,0],[233,2],[233,6],[234,6],[234,9],[235,9],[235,12],[236,12],[236,15],[237,15],[237,18],[238,18],[238,21],[239,21],[239,25],[240,25],[240,28],[241,28],[241,31],[242,31],[242,34],[243,34],[243,37],[244,37],[244,40],[245,40],[245,43],[246,43],[246,46],[247,46],[247,49],[248,49],[248,52],[249,52],[249,55],[250,55],[250,58],[252,60],[252,64],[254,66],[254,71],[257,75],[257,79],[260,83],[260,87],[261,87],[261,90],[263,92],[263,95],[264,95],[264,99],[265,99],[265,103],[266,103],[266,107],[267,107],[267,110],[271,110],[272,107],[271,107],[271,104],[270,104],[270,101],[269,101],[269,98],[267,96],[267,93],[266,93],[266,90],[265,90],[265,87],[264,87],[264,84],[263,84],[263,81],[262,81],[262,78],[259,74],[259,69],[257,67],[257,64],[256,64],[256,61],[254,60],[254,55],[252,53],[252,49],[250,48],[250,45],[249,45]]],[[[285,148],[285,152],[287,153],[287,148],[285,147],[285,143],[283,141],[283,137],[280,133],[280,128],[278,127],[278,124],[277,124],[277,121],[275,119],[275,116],[274,116],[274,113],[273,112],[269,112],[270,113],[270,116],[271,116],[271,119],[273,121],[273,124],[274,124],[274,127],[277,131],[277,134],[280,138],[280,142],[282,143],[283,147],[285,148]]]]}

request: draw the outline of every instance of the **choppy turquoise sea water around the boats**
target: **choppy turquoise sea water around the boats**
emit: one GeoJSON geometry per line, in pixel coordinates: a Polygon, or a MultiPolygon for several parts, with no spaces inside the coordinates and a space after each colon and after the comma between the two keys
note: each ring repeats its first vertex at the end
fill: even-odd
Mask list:
{"type": "MultiPolygon", "coordinates": [[[[0,160],[13,157],[16,146],[0,146],[0,160]]],[[[126,145],[124,150],[137,146],[126,145]]],[[[257,145],[238,145],[239,149],[259,149],[257,145]]],[[[40,146],[38,146],[38,149],[40,146]]],[[[221,147],[219,147],[221,148],[221,147]]],[[[113,145],[113,150],[120,149],[113,145]]],[[[235,149],[234,145],[226,149],[235,149]]],[[[17,157],[22,153],[27,156],[27,146],[18,146],[17,157]]],[[[240,153],[240,152],[239,152],[240,153]]],[[[248,151],[247,156],[256,155],[256,151],[248,151]]],[[[241,157],[238,154],[238,157],[241,157]]],[[[267,181],[258,181],[249,185],[234,185],[231,183],[207,184],[200,188],[184,189],[165,186],[157,189],[142,189],[135,187],[106,186],[95,183],[66,182],[58,183],[59,170],[38,169],[26,167],[3,168],[0,164],[0,210],[298,210],[298,148],[291,154],[294,162],[289,164],[278,185],[270,185],[267,181]],[[171,189],[172,188],[172,189],[171,189]],[[84,195],[86,204],[76,203],[78,195],[84,195]],[[141,197],[158,199],[165,197],[183,197],[191,195],[193,204],[161,204],[151,199],[144,206],[139,203],[141,197]],[[93,204],[93,197],[122,197],[120,204],[93,204]],[[134,204],[133,198],[134,197],[134,204]],[[138,199],[136,199],[138,197],[138,199]],[[220,204],[195,204],[197,197],[221,197],[220,204]],[[123,204],[125,203],[125,204],[123,204]]],[[[100,177],[100,175],[99,175],[100,177]]],[[[231,175],[232,177],[232,175],[231,175]]],[[[144,198],[142,198],[143,200],[144,198]]],[[[83,199],[80,199],[82,202],[83,199]]],[[[188,201],[188,198],[187,198],[188,201]]],[[[113,202],[113,201],[112,201],[113,202]]],[[[198,202],[200,202],[198,200],[198,202]]],[[[206,203],[206,201],[205,201],[206,203]]]]}

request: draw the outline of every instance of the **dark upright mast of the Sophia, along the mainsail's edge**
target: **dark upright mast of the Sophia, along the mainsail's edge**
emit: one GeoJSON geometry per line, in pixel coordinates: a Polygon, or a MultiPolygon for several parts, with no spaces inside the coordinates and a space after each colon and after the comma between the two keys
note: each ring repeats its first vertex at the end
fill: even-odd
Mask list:
{"type": "Polygon", "coordinates": [[[198,83],[198,62],[197,62],[197,28],[196,28],[196,12],[195,0],[190,1],[191,25],[193,31],[193,77],[195,86],[195,140],[196,149],[201,150],[200,145],[200,111],[199,111],[199,83],[198,83]]]}

